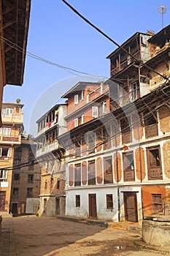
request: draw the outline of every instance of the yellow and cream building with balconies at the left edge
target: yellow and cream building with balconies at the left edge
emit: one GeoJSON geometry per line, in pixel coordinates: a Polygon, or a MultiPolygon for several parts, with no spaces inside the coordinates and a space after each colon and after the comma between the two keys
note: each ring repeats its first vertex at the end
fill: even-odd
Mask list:
{"type": "Polygon", "coordinates": [[[9,212],[15,146],[20,146],[23,130],[23,105],[3,103],[0,128],[0,212],[9,212]]]}

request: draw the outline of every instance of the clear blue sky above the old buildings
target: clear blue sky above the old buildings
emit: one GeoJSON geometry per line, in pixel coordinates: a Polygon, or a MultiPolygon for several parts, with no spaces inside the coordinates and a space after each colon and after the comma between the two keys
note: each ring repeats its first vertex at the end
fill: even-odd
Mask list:
{"type": "MultiPolygon", "coordinates": [[[[162,29],[162,16],[158,12],[160,5],[167,7],[167,12],[163,15],[164,26],[168,26],[170,21],[169,0],[68,0],[68,2],[119,44],[136,31],[143,33],[147,29],[155,33],[160,31],[162,29]]],[[[25,130],[34,133],[35,120],[58,102],[61,95],[77,81],[91,78],[101,80],[100,76],[109,78],[109,60],[106,57],[115,48],[117,47],[112,42],[85,23],[63,1],[32,0],[28,52],[64,67],[98,76],[96,78],[77,76],[65,69],[26,56],[23,86],[5,86],[4,102],[21,99],[24,104],[25,130]]]]}

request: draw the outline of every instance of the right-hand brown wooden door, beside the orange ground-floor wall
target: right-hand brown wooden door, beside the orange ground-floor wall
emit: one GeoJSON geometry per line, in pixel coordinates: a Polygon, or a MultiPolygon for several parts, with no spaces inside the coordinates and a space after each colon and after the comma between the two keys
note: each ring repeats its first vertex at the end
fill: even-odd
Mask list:
{"type": "Polygon", "coordinates": [[[125,220],[138,222],[136,192],[124,192],[125,220]]]}

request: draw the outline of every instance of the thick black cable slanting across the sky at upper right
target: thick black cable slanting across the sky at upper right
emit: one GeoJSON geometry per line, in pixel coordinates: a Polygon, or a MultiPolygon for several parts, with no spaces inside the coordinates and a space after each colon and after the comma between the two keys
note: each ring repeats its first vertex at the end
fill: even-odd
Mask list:
{"type": "MultiPolygon", "coordinates": [[[[74,7],[72,7],[71,4],[69,4],[65,0],[61,0],[61,1],[63,1],[63,3],[66,4],[73,12],[75,12],[78,16],[80,16],[80,18],[82,18],[82,20],[85,20],[86,23],[88,23],[90,26],[92,26],[94,29],[96,29],[100,34],[102,34],[104,37],[107,37],[107,39],[109,39],[109,41],[113,42],[115,45],[117,45],[118,48],[122,49],[125,53],[127,53],[129,56],[131,56],[132,59],[134,59],[135,61],[139,61],[139,59],[136,59],[131,53],[128,52],[128,50],[125,50],[125,48],[123,48],[123,46],[119,45],[117,42],[115,42],[115,40],[113,40],[111,37],[109,37],[107,34],[105,34],[104,31],[101,31],[101,29],[99,29],[97,26],[95,26],[93,23],[91,23],[90,20],[85,18],[83,15],[81,15],[80,12],[78,12],[74,7]]],[[[155,71],[150,66],[145,64],[144,61],[141,60],[140,64],[142,64],[144,67],[147,67],[147,69],[150,69],[152,72],[155,72],[155,74],[160,75],[163,79],[169,80],[169,78],[167,78],[164,75],[161,75],[159,72],[155,71]]]]}

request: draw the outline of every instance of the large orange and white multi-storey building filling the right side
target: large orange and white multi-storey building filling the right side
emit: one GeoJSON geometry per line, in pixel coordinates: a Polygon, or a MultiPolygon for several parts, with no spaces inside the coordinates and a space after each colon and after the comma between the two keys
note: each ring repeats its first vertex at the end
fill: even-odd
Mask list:
{"type": "Polygon", "coordinates": [[[110,80],[63,95],[66,215],[142,223],[170,214],[169,40],[170,26],[134,34],[107,57],[110,80]]]}

